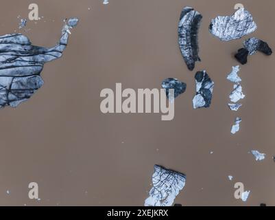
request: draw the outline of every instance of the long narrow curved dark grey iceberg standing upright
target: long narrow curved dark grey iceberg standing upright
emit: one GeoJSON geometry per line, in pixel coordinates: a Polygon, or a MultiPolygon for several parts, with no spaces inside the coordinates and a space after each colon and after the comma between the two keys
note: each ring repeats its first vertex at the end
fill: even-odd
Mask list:
{"type": "Polygon", "coordinates": [[[198,31],[202,15],[193,8],[185,7],[180,14],[178,23],[178,43],[180,51],[189,70],[195,68],[195,62],[200,61],[198,31]]]}

